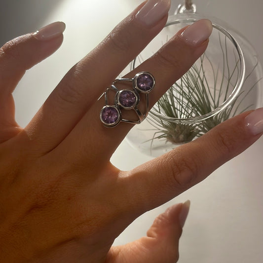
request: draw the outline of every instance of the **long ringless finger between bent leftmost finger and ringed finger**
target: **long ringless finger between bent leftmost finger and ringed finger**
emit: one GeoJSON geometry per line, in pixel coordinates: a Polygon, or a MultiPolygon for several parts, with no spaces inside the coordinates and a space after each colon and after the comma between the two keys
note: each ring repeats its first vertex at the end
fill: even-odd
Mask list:
{"type": "Polygon", "coordinates": [[[170,0],[141,4],[62,79],[26,128],[34,128],[34,133],[29,133],[35,144],[43,146],[43,152],[56,147],[70,133],[105,87],[160,32],[169,7],[170,0]]]}

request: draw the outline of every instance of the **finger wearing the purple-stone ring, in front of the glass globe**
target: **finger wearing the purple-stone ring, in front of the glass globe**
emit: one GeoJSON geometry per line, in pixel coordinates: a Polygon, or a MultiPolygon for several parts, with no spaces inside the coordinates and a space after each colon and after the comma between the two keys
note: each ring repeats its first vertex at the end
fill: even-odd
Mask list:
{"type": "MultiPolygon", "coordinates": [[[[156,54],[128,75],[134,76],[141,71],[149,71],[154,75],[155,87],[149,95],[150,107],[178,78],[188,71],[196,59],[205,51],[208,44],[207,39],[211,32],[211,22],[199,20],[188,27],[183,34],[182,31],[176,34],[156,54]]],[[[78,152],[75,154],[76,156],[80,155],[79,151],[81,150],[89,150],[92,153],[90,156],[92,162],[102,163],[102,161],[111,158],[112,153],[132,128],[132,125],[120,123],[113,129],[104,127],[99,119],[99,113],[104,105],[105,101],[102,98],[85,114],[61,144],[60,147],[64,149],[63,152],[66,152],[69,145],[74,145],[75,151],[78,152]],[[83,131],[85,132],[83,133],[83,131]],[[77,142],[75,138],[79,138],[77,142]]],[[[133,111],[131,112],[133,113],[133,111]]],[[[86,155],[82,155],[83,160],[86,160],[86,155]]]]}

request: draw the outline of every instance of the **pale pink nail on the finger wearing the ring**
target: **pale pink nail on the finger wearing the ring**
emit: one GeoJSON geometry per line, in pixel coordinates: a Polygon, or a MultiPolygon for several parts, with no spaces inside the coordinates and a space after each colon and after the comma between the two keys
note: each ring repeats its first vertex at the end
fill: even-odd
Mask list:
{"type": "Polygon", "coordinates": [[[183,38],[189,45],[198,46],[206,41],[213,30],[210,20],[201,19],[190,25],[182,34],[183,38]]]}

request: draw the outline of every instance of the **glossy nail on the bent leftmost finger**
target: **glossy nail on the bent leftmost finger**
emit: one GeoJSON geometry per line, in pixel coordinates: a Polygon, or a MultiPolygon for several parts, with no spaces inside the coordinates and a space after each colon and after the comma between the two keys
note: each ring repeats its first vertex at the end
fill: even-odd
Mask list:
{"type": "Polygon", "coordinates": [[[34,37],[38,40],[50,40],[62,35],[65,31],[66,25],[63,22],[55,22],[48,26],[39,29],[34,33],[34,37]]]}

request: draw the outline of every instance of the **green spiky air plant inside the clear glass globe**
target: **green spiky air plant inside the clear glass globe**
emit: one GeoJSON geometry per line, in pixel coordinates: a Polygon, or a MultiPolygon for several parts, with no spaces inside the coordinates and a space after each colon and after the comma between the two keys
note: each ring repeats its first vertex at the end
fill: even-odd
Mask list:
{"type": "MultiPolygon", "coordinates": [[[[219,35],[219,42],[223,55],[223,74],[221,79],[219,79],[219,68],[215,70],[209,58],[204,54],[199,60],[199,66],[197,66],[198,63],[194,64],[192,68],[161,97],[150,111],[148,121],[154,129],[156,129],[151,140],[165,138],[174,144],[187,143],[195,137],[206,133],[226,119],[237,113],[242,113],[253,106],[248,105],[246,108],[240,109],[243,100],[257,83],[248,91],[240,92],[234,102],[224,111],[202,122],[187,124],[180,121],[169,121],[159,116],[159,114],[161,114],[162,116],[170,118],[187,119],[193,116],[205,115],[218,108],[222,104],[222,101],[226,100],[237,82],[239,60],[234,53],[235,64],[233,69],[230,70],[226,37],[223,43],[219,35]],[[204,60],[210,64],[213,72],[212,77],[214,83],[212,86],[207,79],[204,60]]],[[[252,72],[256,67],[257,64],[252,72]]],[[[246,79],[252,72],[246,76],[246,79]]]]}

